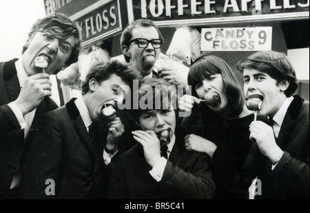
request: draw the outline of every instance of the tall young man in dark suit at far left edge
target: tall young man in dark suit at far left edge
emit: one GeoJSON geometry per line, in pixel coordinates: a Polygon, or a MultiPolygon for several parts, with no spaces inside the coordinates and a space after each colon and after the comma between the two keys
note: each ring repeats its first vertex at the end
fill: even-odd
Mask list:
{"type": "Polygon", "coordinates": [[[25,141],[39,115],[58,107],[49,76],[76,62],[80,48],[79,25],[53,14],[34,23],[20,59],[0,63],[0,199],[19,196],[25,141]],[[45,65],[35,64],[39,58],[45,65]]]}

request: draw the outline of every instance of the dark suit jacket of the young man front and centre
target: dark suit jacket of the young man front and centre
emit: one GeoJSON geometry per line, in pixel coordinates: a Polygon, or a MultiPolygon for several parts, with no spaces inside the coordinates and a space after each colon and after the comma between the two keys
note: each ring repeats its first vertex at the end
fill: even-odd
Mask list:
{"type": "Polygon", "coordinates": [[[183,140],[169,156],[163,178],[157,182],[150,174],[143,147],[136,144],[111,163],[107,199],[212,199],[215,185],[203,153],[188,152],[183,140]]]}

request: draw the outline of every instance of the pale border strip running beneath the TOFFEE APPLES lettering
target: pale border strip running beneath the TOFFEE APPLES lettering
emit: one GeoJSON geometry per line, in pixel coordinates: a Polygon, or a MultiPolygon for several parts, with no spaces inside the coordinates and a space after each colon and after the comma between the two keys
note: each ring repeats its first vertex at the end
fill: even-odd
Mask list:
{"type": "Polygon", "coordinates": [[[298,18],[308,18],[309,12],[291,12],[283,14],[265,14],[265,15],[254,15],[254,16],[236,16],[236,17],[220,17],[220,18],[209,18],[209,19],[184,19],[184,20],[174,20],[174,21],[155,21],[157,26],[160,27],[171,27],[171,26],[183,26],[183,25],[205,25],[208,23],[230,23],[230,22],[240,22],[240,21],[258,21],[266,20],[277,21],[280,19],[298,19],[298,18]]]}

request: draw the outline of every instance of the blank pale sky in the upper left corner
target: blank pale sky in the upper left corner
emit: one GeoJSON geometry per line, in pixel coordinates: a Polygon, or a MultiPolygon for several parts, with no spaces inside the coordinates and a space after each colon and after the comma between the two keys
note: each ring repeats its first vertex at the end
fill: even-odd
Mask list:
{"type": "Polygon", "coordinates": [[[32,24],[44,16],[43,0],[0,0],[0,61],[20,58],[32,24]]]}

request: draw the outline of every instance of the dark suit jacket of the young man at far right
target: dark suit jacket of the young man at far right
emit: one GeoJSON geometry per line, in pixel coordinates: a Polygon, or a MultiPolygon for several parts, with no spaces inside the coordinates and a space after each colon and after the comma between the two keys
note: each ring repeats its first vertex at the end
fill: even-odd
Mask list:
{"type": "Polygon", "coordinates": [[[255,199],[309,199],[309,102],[294,96],[277,144],[284,154],[274,170],[271,161],[261,156],[262,196],[255,199]]]}

